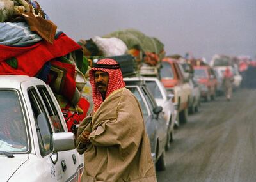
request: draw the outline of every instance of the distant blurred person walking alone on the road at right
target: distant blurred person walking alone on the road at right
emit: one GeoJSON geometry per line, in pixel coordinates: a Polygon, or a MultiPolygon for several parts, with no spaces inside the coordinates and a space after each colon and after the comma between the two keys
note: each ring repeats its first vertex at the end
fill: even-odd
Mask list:
{"type": "Polygon", "coordinates": [[[227,67],[223,74],[223,88],[228,101],[232,96],[232,82],[234,82],[234,76],[230,68],[227,67]]]}

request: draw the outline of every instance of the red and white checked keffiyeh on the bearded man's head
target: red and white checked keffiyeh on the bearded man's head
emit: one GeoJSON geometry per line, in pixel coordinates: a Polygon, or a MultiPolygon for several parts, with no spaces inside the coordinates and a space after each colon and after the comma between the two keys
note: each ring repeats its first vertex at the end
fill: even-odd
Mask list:
{"type": "MultiPolygon", "coordinates": [[[[106,65],[106,68],[95,68],[93,67],[90,72],[90,83],[92,85],[92,98],[93,98],[93,104],[94,104],[94,109],[93,111],[96,112],[97,109],[99,109],[101,103],[103,102],[101,93],[96,87],[95,84],[95,78],[94,78],[94,72],[95,71],[102,71],[102,72],[108,72],[109,74],[109,81],[108,81],[108,88],[106,92],[106,98],[113,93],[113,91],[116,91],[118,89],[121,89],[125,87],[125,83],[123,80],[122,72],[120,68],[108,68],[109,65],[116,66],[118,63],[114,59],[101,59],[100,61],[97,62],[97,64],[100,65],[106,65]]],[[[104,66],[103,66],[104,67],[104,66]]],[[[118,66],[119,67],[119,66],[118,66]]]]}

